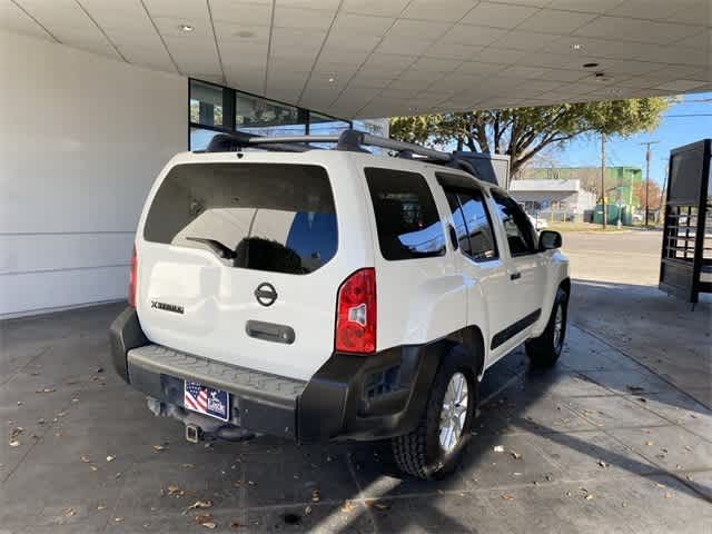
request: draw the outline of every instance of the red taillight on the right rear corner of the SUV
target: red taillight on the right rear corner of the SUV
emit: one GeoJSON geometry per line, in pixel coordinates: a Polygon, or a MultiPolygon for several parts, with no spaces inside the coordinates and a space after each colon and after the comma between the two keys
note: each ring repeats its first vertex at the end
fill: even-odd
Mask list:
{"type": "Polygon", "coordinates": [[[342,353],[376,352],[376,271],[360,269],[338,289],[335,348],[342,353]]]}

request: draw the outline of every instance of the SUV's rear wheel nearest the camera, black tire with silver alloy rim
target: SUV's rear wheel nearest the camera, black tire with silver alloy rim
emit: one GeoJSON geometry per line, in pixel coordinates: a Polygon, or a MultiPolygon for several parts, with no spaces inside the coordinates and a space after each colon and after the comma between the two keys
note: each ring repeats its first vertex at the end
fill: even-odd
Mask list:
{"type": "Polygon", "coordinates": [[[423,479],[453,472],[469,441],[478,397],[474,358],[456,345],[443,358],[425,413],[415,431],[392,439],[398,468],[423,479]]]}

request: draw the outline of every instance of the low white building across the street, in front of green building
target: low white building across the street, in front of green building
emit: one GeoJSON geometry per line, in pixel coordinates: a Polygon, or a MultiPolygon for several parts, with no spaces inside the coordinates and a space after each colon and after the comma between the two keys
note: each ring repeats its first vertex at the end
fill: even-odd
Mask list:
{"type": "Polygon", "coordinates": [[[512,180],[512,196],[524,210],[555,221],[581,221],[596,205],[596,195],[582,189],[581,180],[512,180]]]}

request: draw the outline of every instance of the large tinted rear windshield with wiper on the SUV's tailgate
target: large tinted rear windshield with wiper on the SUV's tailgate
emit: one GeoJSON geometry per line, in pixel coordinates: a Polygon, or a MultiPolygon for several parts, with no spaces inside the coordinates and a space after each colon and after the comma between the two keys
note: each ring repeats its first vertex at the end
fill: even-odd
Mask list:
{"type": "Polygon", "coordinates": [[[225,264],[303,275],[336,254],[336,211],[322,167],[188,164],[174,167],[144,238],[209,250],[225,264]]]}

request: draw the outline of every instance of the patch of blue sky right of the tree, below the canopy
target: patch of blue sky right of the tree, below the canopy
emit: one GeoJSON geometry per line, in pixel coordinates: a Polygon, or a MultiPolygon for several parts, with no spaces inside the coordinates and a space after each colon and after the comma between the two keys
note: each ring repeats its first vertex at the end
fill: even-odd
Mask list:
{"type": "MultiPolygon", "coordinates": [[[[652,180],[662,185],[671,149],[712,137],[712,92],[685,95],[681,99],[680,103],[674,103],[665,111],[657,128],[650,134],[609,138],[605,147],[606,165],[640,167],[645,172],[645,147],[641,142],[660,141],[651,147],[650,175],[652,180]]],[[[554,159],[561,167],[599,166],[600,138],[575,139],[556,151],[554,159]]]]}

